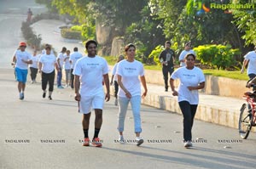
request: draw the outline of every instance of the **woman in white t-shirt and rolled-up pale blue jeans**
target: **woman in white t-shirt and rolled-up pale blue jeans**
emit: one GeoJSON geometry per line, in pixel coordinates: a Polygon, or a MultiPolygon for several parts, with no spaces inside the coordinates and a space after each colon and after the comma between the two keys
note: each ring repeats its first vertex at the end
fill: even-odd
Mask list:
{"type": "Polygon", "coordinates": [[[129,102],[134,119],[134,128],[136,133],[137,146],[143,144],[143,138],[140,137],[142,132],[141,125],[141,99],[147,95],[148,89],[144,76],[143,64],[135,59],[136,47],[133,44],[125,46],[127,59],[119,62],[116,75],[119,83],[119,143],[124,142],[123,132],[125,127],[125,115],[129,102]],[[143,84],[144,93],[141,96],[140,80],[143,84]]]}

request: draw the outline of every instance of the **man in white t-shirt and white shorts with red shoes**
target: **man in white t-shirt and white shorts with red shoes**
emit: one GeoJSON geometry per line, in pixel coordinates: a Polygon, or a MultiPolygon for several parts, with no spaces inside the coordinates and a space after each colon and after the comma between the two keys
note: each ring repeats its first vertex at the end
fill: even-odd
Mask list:
{"type": "Polygon", "coordinates": [[[108,63],[106,59],[96,55],[97,42],[90,40],[85,43],[88,56],[79,59],[74,67],[73,75],[75,76],[74,88],[75,99],[79,101],[79,111],[83,116],[84,146],[90,145],[88,136],[90,124],[91,109],[95,110],[95,132],[92,144],[96,147],[102,147],[98,134],[102,127],[102,109],[104,99],[110,99],[108,63]],[[102,76],[107,88],[106,96],[102,87],[102,76]]]}

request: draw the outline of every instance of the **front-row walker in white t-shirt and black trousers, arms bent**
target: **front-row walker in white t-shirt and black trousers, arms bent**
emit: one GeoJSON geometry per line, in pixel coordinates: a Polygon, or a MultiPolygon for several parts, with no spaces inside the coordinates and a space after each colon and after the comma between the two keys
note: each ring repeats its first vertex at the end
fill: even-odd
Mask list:
{"type": "Polygon", "coordinates": [[[186,66],[180,67],[172,73],[170,86],[172,95],[177,96],[179,107],[183,113],[183,141],[184,147],[192,146],[192,127],[195,112],[199,102],[198,90],[205,87],[205,76],[201,69],[195,67],[195,54],[185,56],[186,66]],[[179,79],[177,91],[174,80],[179,79]]]}

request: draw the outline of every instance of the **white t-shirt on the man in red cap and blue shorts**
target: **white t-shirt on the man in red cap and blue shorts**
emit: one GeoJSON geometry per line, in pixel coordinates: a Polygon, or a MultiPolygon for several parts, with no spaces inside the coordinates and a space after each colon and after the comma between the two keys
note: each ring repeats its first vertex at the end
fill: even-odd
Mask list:
{"type": "Polygon", "coordinates": [[[14,55],[16,58],[15,67],[19,68],[20,70],[27,70],[28,65],[25,62],[23,62],[22,59],[26,61],[31,60],[32,55],[26,51],[22,52],[21,50],[16,50],[14,55]]]}

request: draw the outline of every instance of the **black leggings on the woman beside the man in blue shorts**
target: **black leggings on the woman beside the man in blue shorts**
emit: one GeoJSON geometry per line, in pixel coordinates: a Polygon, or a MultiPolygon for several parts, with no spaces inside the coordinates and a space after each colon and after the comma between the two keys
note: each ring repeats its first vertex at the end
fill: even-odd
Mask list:
{"type": "Polygon", "coordinates": [[[52,92],[54,89],[55,83],[55,70],[51,73],[44,73],[42,71],[42,89],[45,91],[47,87],[47,83],[49,82],[49,92],[52,92]]]}

